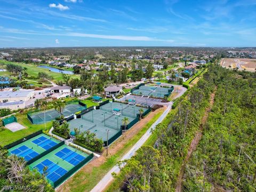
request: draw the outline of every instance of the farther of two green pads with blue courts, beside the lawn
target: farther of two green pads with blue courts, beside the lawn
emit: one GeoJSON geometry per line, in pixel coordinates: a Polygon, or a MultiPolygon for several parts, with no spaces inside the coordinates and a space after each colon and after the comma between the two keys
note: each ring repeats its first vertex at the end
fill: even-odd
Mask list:
{"type": "Polygon", "coordinates": [[[8,149],[8,151],[9,155],[17,155],[25,158],[26,161],[30,161],[39,154],[42,154],[44,151],[53,148],[58,143],[60,143],[60,141],[51,138],[46,134],[39,134],[34,138],[26,140],[19,145],[8,149]]]}

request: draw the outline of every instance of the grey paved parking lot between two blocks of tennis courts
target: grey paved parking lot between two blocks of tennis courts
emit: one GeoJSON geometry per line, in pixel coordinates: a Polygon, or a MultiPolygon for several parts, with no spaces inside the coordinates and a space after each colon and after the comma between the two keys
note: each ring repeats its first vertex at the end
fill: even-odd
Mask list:
{"type": "Polygon", "coordinates": [[[139,104],[142,106],[149,106],[153,107],[154,105],[165,105],[165,103],[162,103],[162,99],[153,99],[149,98],[149,96],[137,96],[137,95],[126,95],[125,97],[121,98],[121,101],[133,99],[135,102],[129,102],[130,104],[139,104]]]}

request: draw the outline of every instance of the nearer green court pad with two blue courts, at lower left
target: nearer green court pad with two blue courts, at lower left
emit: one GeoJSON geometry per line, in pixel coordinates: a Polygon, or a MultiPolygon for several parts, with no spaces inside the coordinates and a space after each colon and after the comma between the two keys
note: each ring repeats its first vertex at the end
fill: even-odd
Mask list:
{"type": "Polygon", "coordinates": [[[75,169],[79,163],[86,161],[87,157],[89,155],[82,151],[62,145],[30,164],[29,169],[37,169],[41,174],[46,174],[47,181],[56,187],[57,182],[63,182],[65,180],[63,177],[67,176],[66,174],[75,169]]]}

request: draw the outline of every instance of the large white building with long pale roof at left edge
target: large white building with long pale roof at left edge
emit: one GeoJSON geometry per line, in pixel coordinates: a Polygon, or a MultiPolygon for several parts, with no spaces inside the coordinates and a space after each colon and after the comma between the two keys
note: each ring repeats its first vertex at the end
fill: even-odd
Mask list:
{"type": "Polygon", "coordinates": [[[0,102],[28,101],[34,95],[34,91],[2,91],[0,92],[0,102]]]}

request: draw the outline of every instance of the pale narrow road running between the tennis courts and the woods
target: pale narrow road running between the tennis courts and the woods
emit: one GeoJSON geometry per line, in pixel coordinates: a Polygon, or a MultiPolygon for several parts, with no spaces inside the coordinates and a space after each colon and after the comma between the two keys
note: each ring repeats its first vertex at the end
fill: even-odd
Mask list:
{"type": "MultiPolygon", "coordinates": [[[[185,87],[183,87],[185,88],[185,87]]],[[[175,97],[180,97],[184,92],[186,91],[185,89],[182,89],[180,91],[180,93],[175,97]]],[[[166,117],[166,115],[169,113],[169,111],[172,108],[172,104],[173,102],[170,102],[170,105],[167,107],[167,109],[164,111],[164,113],[157,119],[157,121],[155,123],[153,123],[153,125],[150,126],[150,128],[147,130],[147,132],[140,138],[140,140],[135,143],[135,145],[121,158],[121,161],[125,160],[125,159],[129,159],[131,158],[136,151],[143,145],[143,143],[145,143],[145,141],[147,141],[147,139],[150,137],[151,133],[151,129],[155,129],[156,125],[161,123],[163,121],[163,119],[166,117]]],[[[101,192],[103,191],[108,185],[109,183],[114,179],[111,175],[111,173],[115,172],[118,173],[120,171],[119,167],[117,165],[115,165],[99,182],[98,184],[91,190],[91,192],[101,192]]]]}

